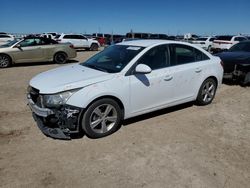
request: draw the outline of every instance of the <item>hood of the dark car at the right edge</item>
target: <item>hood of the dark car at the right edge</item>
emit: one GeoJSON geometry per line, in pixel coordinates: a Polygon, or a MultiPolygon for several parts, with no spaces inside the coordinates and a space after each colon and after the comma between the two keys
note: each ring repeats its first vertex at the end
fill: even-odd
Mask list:
{"type": "Polygon", "coordinates": [[[218,56],[221,58],[221,60],[225,63],[228,61],[244,61],[248,58],[250,58],[250,52],[222,52],[215,54],[215,56],[218,56]]]}

